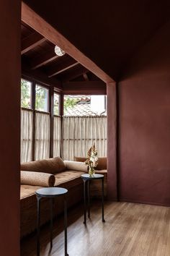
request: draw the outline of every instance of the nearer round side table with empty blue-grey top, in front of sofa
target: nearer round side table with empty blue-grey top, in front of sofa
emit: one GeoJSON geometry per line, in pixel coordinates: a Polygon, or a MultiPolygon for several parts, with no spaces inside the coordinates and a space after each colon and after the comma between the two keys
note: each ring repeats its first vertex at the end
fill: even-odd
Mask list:
{"type": "Polygon", "coordinates": [[[66,195],[68,190],[63,187],[43,187],[37,189],[35,194],[37,196],[37,256],[40,256],[40,200],[42,197],[50,199],[50,250],[53,247],[53,205],[55,197],[64,197],[64,234],[65,234],[65,256],[67,253],[67,201],[66,195]]]}

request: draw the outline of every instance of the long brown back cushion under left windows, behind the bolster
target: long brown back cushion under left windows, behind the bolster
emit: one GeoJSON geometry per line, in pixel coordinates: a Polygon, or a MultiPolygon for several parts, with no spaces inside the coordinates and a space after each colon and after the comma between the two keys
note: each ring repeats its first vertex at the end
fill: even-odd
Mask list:
{"type": "Polygon", "coordinates": [[[57,174],[58,172],[65,170],[65,163],[59,157],[21,163],[21,171],[36,171],[45,172],[48,174],[57,174]]]}

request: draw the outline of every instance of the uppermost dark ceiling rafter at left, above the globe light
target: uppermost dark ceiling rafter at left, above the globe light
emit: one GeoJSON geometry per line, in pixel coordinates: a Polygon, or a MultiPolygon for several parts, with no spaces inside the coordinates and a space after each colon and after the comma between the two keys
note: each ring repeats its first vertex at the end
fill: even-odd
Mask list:
{"type": "Polygon", "coordinates": [[[21,54],[27,53],[27,51],[32,50],[36,46],[40,45],[40,43],[44,42],[46,39],[38,34],[32,33],[31,35],[27,36],[27,38],[22,39],[22,51],[21,54]]]}

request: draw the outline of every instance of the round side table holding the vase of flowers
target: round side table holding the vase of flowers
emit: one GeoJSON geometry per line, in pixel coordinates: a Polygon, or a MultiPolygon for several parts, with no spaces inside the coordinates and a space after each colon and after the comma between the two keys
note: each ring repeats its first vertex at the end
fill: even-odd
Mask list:
{"type": "Polygon", "coordinates": [[[86,225],[86,195],[88,201],[88,218],[90,218],[90,181],[94,179],[101,179],[102,181],[102,221],[104,221],[104,175],[94,174],[94,176],[89,176],[89,174],[81,174],[81,179],[84,181],[84,224],[86,225]],[[86,186],[87,184],[87,186],[86,186]]]}

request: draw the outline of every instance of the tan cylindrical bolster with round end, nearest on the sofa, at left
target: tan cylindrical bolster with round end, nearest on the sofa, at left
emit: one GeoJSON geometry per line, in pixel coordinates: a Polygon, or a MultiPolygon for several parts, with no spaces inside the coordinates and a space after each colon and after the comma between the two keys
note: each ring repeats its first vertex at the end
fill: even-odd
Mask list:
{"type": "Polygon", "coordinates": [[[55,176],[53,174],[45,174],[35,171],[21,171],[21,184],[53,187],[55,184],[55,176]]]}

